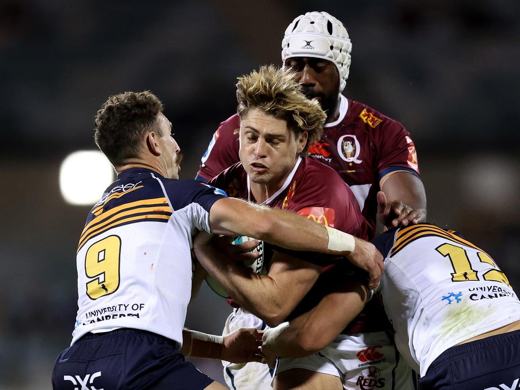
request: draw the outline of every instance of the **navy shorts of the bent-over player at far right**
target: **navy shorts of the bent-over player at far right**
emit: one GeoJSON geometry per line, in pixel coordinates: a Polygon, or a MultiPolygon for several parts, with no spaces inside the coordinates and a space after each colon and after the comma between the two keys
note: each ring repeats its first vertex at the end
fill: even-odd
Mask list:
{"type": "Polygon", "coordinates": [[[503,390],[520,384],[520,330],[449,348],[419,380],[420,390],[503,390]]]}

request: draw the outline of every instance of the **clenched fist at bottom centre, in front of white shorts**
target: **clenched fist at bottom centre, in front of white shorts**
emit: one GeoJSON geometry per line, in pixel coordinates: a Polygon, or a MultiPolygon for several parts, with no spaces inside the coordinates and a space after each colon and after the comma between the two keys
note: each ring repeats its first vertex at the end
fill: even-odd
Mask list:
{"type": "Polygon", "coordinates": [[[224,337],[220,359],[232,363],[261,362],[263,359],[261,345],[261,333],[254,328],[240,328],[224,337]]]}

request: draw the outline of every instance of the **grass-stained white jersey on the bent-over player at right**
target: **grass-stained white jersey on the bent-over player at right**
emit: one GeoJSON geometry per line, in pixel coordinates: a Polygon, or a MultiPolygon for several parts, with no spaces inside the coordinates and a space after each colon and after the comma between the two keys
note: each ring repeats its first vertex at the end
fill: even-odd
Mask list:
{"type": "Polygon", "coordinates": [[[421,376],[446,349],[520,319],[508,278],[454,231],[420,224],[373,242],[385,257],[380,291],[395,343],[421,376]]]}

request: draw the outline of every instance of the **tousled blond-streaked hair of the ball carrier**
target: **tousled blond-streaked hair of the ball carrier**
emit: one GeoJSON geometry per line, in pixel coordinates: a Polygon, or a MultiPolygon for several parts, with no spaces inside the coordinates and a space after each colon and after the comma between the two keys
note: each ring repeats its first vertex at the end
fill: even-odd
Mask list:
{"type": "Polygon", "coordinates": [[[295,76],[290,68],[269,65],[238,77],[237,112],[242,120],[249,110],[261,109],[287,121],[287,126],[296,136],[307,132],[307,144],[302,152],[302,155],[307,155],[309,145],[321,138],[327,114],[317,100],[307,99],[295,76]]]}

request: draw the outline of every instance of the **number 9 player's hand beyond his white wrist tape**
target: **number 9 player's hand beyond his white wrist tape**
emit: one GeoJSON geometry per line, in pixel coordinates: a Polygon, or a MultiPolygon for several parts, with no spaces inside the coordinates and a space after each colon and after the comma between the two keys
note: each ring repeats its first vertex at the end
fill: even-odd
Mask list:
{"type": "Polygon", "coordinates": [[[355,266],[368,272],[368,287],[375,290],[385,269],[383,256],[371,242],[354,237],[356,246],[347,256],[355,266]]]}

